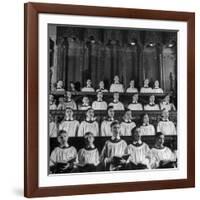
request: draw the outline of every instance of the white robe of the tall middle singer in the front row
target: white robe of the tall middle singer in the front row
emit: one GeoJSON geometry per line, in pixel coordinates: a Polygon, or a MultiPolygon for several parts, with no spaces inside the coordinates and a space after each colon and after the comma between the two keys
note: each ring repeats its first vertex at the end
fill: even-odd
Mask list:
{"type": "Polygon", "coordinates": [[[104,161],[104,163],[107,164],[114,156],[122,157],[126,154],[126,149],[127,143],[125,140],[107,140],[101,152],[101,161],[104,161]]]}

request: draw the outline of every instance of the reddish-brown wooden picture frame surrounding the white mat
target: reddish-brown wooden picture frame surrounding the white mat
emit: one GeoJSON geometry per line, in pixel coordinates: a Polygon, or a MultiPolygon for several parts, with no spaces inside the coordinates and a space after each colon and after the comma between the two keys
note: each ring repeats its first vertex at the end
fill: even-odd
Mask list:
{"type": "Polygon", "coordinates": [[[24,8],[24,195],[26,197],[42,197],[194,187],[195,14],[188,12],[43,3],[26,3],[24,8]],[[187,179],[59,187],[38,186],[38,15],[40,13],[173,20],[187,22],[187,179]]]}

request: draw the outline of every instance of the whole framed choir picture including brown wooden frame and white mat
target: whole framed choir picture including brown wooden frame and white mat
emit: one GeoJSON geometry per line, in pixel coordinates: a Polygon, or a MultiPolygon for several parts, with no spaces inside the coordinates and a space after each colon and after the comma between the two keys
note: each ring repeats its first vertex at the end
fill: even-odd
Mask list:
{"type": "Polygon", "coordinates": [[[195,15],[25,4],[26,197],[194,187],[195,15]]]}

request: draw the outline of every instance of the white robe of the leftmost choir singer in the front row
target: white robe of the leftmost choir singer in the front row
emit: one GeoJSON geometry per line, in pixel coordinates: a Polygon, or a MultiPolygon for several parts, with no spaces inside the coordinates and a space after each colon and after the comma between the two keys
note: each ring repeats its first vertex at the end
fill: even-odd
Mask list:
{"type": "Polygon", "coordinates": [[[72,159],[76,159],[77,157],[77,151],[75,147],[69,146],[69,147],[56,147],[50,156],[50,166],[55,165],[56,163],[67,163],[68,161],[72,159]]]}

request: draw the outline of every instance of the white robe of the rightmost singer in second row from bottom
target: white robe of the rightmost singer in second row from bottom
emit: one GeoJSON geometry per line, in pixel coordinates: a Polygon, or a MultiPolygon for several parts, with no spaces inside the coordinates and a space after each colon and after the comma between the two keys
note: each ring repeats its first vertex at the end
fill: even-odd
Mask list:
{"type": "Polygon", "coordinates": [[[161,132],[164,135],[176,135],[176,127],[172,121],[162,120],[158,122],[157,132],[161,132]]]}

